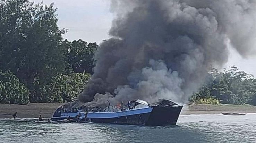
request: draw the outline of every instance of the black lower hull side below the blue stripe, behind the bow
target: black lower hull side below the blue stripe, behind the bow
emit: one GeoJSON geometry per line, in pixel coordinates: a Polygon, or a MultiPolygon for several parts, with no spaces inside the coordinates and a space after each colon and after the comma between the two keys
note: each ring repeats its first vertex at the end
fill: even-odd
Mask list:
{"type": "Polygon", "coordinates": [[[145,125],[150,113],[121,116],[117,118],[86,118],[86,121],[93,123],[145,125]]]}

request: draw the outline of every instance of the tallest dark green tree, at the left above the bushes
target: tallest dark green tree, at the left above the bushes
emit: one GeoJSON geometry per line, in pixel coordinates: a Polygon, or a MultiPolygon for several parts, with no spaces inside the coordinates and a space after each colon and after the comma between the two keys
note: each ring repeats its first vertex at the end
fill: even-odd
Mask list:
{"type": "Polygon", "coordinates": [[[40,88],[67,67],[56,10],[29,0],[0,3],[0,70],[16,74],[32,102],[41,102],[40,88]]]}

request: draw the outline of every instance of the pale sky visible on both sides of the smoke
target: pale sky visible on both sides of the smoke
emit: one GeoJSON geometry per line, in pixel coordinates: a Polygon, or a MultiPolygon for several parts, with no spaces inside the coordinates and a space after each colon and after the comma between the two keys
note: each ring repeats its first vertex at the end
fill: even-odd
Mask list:
{"type": "MultiPolygon", "coordinates": [[[[114,18],[109,10],[110,0],[43,0],[43,4],[46,5],[53,2],[58,8],[59,27],[69,29],[63,35],[64,38],[69,41],[82,39],[99,44],[110,37],[108,31],[114,18]]],[[[256,75],[256,56],[245,59],[233,48],[229,49],[229,60],[223,68],[236,65],[240,70],[256,75]]]]}

